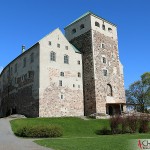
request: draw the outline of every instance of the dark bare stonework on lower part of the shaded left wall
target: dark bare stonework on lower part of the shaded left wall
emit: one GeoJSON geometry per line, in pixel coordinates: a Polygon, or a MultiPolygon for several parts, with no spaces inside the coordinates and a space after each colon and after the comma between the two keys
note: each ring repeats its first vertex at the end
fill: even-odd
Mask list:
{"type": "Polygon", "coordinates": [[[39,116],[39,100],[33,97],[33,81],[26,79],[18,80],[18,86],[11,84],[1,93],[1,117],[12,113],[23,114],[27,117],[39,116]]]}

